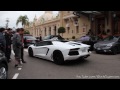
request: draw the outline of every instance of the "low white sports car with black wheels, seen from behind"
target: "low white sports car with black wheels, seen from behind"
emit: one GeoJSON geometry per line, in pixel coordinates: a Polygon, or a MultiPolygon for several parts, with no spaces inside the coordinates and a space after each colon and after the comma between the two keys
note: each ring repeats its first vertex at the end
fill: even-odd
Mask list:
{"type": "Polygon", "coordinates": [[[63,64],[66,60],[87,58],[90,56],[89,45],[73,41],[42,41],[28,47],[31,57],[39,57],[63,64]]]}

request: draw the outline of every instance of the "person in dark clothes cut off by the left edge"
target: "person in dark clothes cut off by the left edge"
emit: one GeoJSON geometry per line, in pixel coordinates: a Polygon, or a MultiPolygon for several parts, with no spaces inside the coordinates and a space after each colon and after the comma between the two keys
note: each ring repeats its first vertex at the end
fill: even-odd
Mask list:
{"type": "Polygon", "coordinates": [[[1,50],[5,53],[6,50],[6,40],[5,40],[5,36],[4,34],[5,29],[4,28],[0,28],[0,46],[1,46],[1,50]]]}

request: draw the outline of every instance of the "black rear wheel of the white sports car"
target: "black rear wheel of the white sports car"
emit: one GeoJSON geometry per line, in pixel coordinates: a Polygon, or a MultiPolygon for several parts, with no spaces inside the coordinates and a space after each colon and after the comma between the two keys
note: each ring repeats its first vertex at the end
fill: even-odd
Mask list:
{"type": "Polygon", "coordinates": [[[61,51],[53,52],[53,60],[55,64],[62,65],[64,63],[64,57],[61,51]]]}

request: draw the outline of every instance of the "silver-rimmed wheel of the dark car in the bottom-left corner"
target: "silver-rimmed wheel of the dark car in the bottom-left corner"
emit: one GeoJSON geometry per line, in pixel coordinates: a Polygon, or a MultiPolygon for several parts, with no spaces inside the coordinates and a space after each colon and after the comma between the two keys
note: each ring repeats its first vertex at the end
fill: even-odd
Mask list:
{"type": "Polygon", "coordinates": [[[0,64],[0,79],[7,79],[8,71],[5,64],[0,64]]]}

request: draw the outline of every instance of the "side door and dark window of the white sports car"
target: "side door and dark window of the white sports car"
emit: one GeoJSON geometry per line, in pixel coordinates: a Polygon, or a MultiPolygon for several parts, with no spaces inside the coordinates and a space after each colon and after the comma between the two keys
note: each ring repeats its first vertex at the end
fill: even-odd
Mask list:
{"type": "Polygon", "coordinates": [[[36,44],[34,49],[35,56],[45,57],[49,51],[49,46],[52,45],[51,41],[42,41],[36,44]]]}

